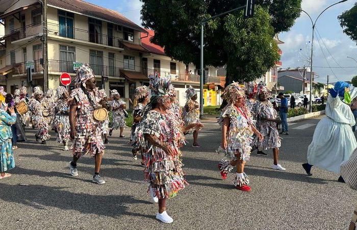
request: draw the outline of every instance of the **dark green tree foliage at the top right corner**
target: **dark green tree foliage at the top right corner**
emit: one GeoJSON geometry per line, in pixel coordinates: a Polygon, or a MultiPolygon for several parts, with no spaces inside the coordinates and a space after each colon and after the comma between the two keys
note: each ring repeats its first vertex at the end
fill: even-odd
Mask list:
{"type": "Polygon", "coordinates": [[[357,3],[338,16],[340,25],[344,28],[343,32],[357,43],[357,3]]]}

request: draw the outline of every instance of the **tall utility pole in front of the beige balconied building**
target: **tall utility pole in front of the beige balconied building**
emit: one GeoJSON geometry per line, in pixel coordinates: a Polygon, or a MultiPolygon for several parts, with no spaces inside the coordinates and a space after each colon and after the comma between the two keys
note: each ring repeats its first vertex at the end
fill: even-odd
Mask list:
{"type": "Polygon", "coordinates": [[[42,58],[43,58],[43,90],[48,87],[48,57],[47,57],[47,0],[42,0],[42,58]]]}

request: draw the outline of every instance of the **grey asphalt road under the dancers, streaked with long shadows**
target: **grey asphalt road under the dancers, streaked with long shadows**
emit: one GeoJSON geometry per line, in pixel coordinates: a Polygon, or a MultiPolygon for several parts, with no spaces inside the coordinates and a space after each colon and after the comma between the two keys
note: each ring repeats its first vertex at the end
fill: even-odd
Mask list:
{"type": "Polygon", "coordinates": [[[290,135],[283,136],[279,163],[287,171],[270,168],[271,151],[252,153],[245,170],[249,193],[232,186],[233,173],[220,179],[219,126],[205,122],[202,148],[191,147],[192,136],[183,148],[190,186],[168,200],[172,224],[155,219],[157,205],[146,194],[143,168],[132,158],[127,139],[110,138],[101,170],[106,183],[96,185],[90,182],[93,159],[83,157],[80,175],[72,177],[71,153],[62,151],[55,133],[44,146],[34,142],[30,129],[29,142],[15,152],[13,176],[0,180],[0,222],[6,229],[347,229],[357,193],[337,182],[335,173],[314,168],[309,177],[301,167],[319,119],[291,124],[290,135]]]}

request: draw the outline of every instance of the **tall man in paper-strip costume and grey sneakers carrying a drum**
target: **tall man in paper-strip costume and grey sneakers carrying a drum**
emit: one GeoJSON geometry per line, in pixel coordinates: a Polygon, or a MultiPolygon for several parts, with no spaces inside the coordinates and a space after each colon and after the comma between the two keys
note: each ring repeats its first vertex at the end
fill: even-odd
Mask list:
{"type": "Polygon", "coordinates": [[[101,159],[104,154],[104,143],[101,139],[103,122],[93,117],[94,110],[107,108],[106,101],[100,97],[96,80],[89,64],[77,70],[75,89],[71,91],[69,103],[70,136],[73,142],[73,159],[69,163],[70,174],[78,176],[77,161],[83,155],[94,157],[95,168],[92,182],[103,185],[100,178],[101,159]]]}

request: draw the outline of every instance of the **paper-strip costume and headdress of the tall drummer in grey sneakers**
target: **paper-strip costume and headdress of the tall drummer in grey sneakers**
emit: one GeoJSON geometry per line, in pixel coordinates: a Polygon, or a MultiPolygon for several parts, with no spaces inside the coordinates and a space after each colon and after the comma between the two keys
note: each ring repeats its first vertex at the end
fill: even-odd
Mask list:
{"type": "Polygon", "coordinates": [[[105,149],[101,139],[103,122],[99,122],[93,117],[94,109],[100,107],[98,103],[103,99],[103,95],[100,96],[98,88],[94,88],[91,93],[88,92],[88,95],[81,88],[81,85],[85,87],[85,82],[91,78],[94,78],[92,69],[88,64],[82,65],[77,70],[75,79],[77,88],[71,91],[68,99],[69,102],[72,100],[77,102],[77,116],[75,118],[77,135],[75,135],[72,145],[75,157],[86,154],[93,157],[97,153],[104,153],[105,149]]]}

